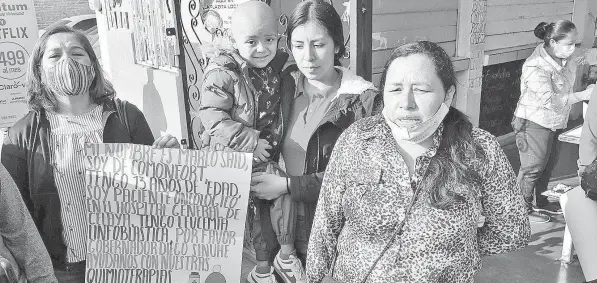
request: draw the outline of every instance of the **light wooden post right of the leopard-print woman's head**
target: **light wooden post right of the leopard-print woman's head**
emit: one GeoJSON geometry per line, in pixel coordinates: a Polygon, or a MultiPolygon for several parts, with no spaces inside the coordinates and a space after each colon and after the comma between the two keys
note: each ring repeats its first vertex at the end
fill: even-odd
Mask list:
{"type": "MultiPolygon", "coordinates": [[[[483,81],[483,58],[485,57],[485,26],[487,25],[487,0],[460,0],[458,7],[458,42],[456,54],[470,58],[467,74],[460,83],[465,85],[464,112],[471,122],[479,125],[481,108],[481,84],[483,81]]],[[[462,97],[461,97],[462,98],[462,97]]]]}

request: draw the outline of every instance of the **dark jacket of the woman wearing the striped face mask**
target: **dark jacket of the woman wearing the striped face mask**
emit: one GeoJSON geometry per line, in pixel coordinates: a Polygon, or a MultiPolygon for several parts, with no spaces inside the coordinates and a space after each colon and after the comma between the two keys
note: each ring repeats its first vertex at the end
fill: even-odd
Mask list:
{"type": "MultiPolygon", "coordinates": [[[[116,99],[103,105],[104,143],[151,145],[154,137],[143,113],[133,104],[116,99]],[[117,111],[122,103],[125,115],[117,111]],[[128,122],[128,129],[124,120],[128,122]]],[[[66,245],[62,239],[60,198],[54,181],[49,146],[50,123],[45,110],[32,110],[16,122],[4,138],[2,164],[6,167],[27,205],[55,269],[64,270],[66,245]]]]}

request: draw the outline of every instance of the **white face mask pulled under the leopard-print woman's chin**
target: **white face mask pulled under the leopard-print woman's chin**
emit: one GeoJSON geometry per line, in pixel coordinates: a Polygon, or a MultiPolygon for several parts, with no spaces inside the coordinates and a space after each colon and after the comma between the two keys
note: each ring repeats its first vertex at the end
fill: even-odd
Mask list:
{"type": "Polygon", "coordinates": [[[420,143],[431,137],[435,131],[439,128],[439,125],[443,122],[446,115],[450,111],[450,107],[446,103],[442,103],[437,112],[427,121],[419,123],[412,127],[402,127],[394,123],[387,115],[386,111],[388,108],[384,108],[382,115],[390,129],[392,135],[396,140],[407,141],[412,143],[420,143]]]}

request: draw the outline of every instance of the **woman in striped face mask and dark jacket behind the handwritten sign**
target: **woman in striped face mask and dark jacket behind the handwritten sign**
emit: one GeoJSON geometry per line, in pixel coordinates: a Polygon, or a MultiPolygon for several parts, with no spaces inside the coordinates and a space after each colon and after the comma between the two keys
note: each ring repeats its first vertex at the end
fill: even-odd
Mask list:
{"type": "Polygon", "coordinates": [[[178,147],[154,141],[143,113],[114,98],[85,35],[47,31],[28,69],[31,111],[4,138],[2,164],[13,177],[50,254],[59,282],[85,282],[85,143],[178,147]]]}

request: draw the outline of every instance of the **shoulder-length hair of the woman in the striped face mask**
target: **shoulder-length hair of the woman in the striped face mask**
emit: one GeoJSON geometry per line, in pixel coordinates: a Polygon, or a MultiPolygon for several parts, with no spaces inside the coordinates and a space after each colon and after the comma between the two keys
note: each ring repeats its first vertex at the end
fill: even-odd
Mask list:
{"type": "Polygon", "coordinates": [[[95,78],[93,79],[91,87],[89,88],[89,95],[91,96],[93,102],[99,105],[104,105],[111,101],[115,95],[114,88],[112,87],[112,84],[104,77],[102,67],[99,64],[97,55],[93,51],[93,47],[91,46],[89,39],[87,39],[87,36],[67,26],[57,26],[46,31],[39,38],[35,44],[35,47],[33,48],[33,52],[31,53],[29,67],[27,69],[27,97],[29,108],[33,110],[40,110],[42,108],[56,110],[56,97],[54,97],[52,92],[45,88],[41,79],[41,60],[44,56],[44,52],[46,51],[48,38],[58,33],[73,34],[89,55],[91,65],[95,71],[95,78]]]}

